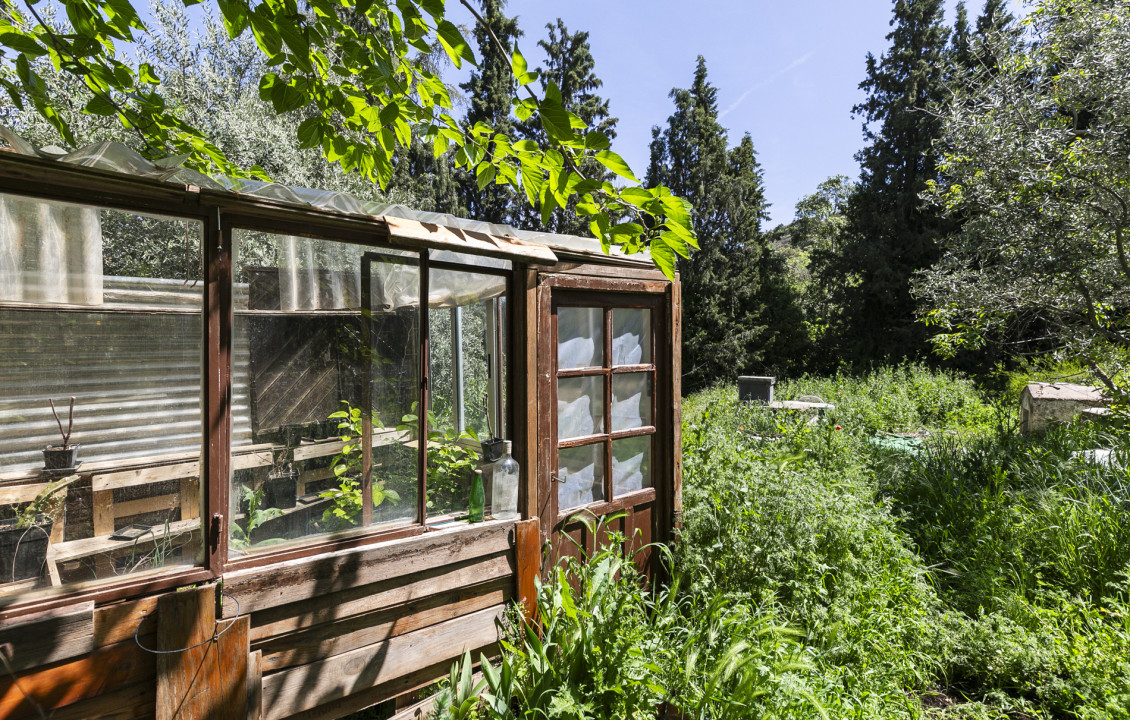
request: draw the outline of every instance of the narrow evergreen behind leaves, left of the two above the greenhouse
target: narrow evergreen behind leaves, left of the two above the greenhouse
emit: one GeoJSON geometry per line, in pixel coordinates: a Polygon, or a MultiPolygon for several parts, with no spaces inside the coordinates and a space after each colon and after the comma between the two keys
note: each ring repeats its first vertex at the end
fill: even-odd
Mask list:
{"type": "MultiPolygon", "coordinates": [[[[486,26],[477,24],[473,33],[479,67],[460,87],[470,99],[467,110],[469,123],[484,122],[496,132],[516,139],[516,125],[510,105],[514,86],[510,53],[514,41],[522,36],[522,31],[518,27],[516,17],[506,17],[503,12],[505,7],[506,0],[481,0],[486,26]]],[[[488,184],[479,190],[471,173],[461,171],[459,177],[461,203],[470,217],[488,223],[510,222],[511,209],[520,201],[510,186],[488,184]]]]}

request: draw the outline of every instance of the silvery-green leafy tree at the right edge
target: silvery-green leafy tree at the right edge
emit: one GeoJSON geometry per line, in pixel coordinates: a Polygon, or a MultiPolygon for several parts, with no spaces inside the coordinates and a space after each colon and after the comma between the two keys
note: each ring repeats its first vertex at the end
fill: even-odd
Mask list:
{"type": "Polygon", "coordinates": [[[916,295],[936,349],[1130,346],[1130,3],[1041,0],[945,112],[928,199],[962,220],[916,295]]]}

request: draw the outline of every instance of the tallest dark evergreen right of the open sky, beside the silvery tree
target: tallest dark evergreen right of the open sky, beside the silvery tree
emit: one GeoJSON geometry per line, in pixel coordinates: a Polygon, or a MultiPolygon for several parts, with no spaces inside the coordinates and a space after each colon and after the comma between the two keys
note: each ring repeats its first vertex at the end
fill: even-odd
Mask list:
{"type": "Polygon", "coordinates": [[[947,220],[922,207],[919,196],[937,176],[933,141],[940,121],[927,112],[945,101],[947,38],[942,0],[895,0],[889,50],[867,57],[860,87],[868,145],[855,158],[860,184],[847,207],[840,261],[841,357],[868,363],[918,356],[925,330],[915,321],[911,278],[938,258],[947,220]]]}

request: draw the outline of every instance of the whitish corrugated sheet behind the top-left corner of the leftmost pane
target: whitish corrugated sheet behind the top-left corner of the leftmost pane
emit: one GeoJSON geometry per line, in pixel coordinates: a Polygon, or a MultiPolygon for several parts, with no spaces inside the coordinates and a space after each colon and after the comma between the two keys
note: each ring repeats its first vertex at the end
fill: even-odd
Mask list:
{"type": "Polygon", "coordinates": [[[0,301],[101,305],[96,208],[0,196],[0,301]]]}

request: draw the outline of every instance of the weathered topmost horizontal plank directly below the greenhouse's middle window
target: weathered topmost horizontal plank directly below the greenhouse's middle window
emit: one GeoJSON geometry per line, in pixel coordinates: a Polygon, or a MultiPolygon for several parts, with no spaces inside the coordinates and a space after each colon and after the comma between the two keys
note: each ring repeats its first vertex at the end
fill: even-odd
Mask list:
{"type": "Polygon", "coordinates": [[[224,576],[224,591],[238,598],[243,613],[253,613],[508,550],[512,528],[484,522],[286,561],[270,572],[241,570],[224,576]]]}

